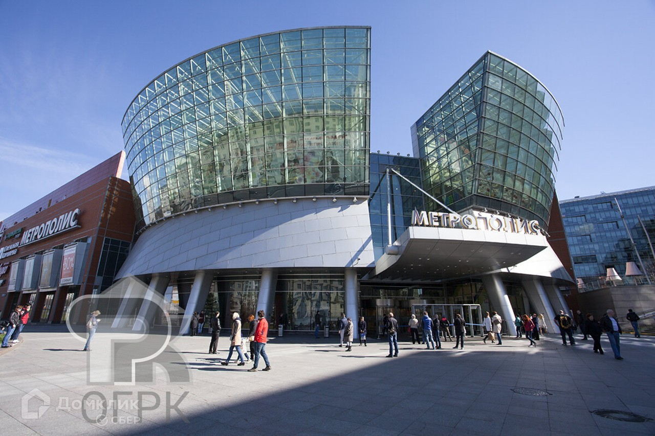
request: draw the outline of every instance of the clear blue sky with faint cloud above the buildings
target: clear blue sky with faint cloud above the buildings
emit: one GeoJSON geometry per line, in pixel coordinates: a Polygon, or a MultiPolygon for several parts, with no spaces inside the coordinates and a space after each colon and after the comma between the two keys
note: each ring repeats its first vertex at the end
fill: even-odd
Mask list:
{"type": "Polygon", "coordinates": [[[655,2],[0,0],[0,220],[123,147],[121,119],[162,71],[213,46],[310,26],[372,27],[371,150],[485,50],[562,108],[561,200],[655,185],[655,2]]]}

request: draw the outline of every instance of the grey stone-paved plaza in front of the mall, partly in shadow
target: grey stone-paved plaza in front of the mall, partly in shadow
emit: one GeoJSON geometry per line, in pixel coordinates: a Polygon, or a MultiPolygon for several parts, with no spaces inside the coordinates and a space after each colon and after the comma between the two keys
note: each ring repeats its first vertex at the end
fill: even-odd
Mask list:
{"type": "Polygon", "coordinates": [[[497,346],[472,338],[464,350],[444,342],[436,351],[405,340],[398,358],[385,357],[384,340],[346,352],[335,335],[288,335],[267,344],[270,372],[246,371],[251,363],[219,365],[226,335],[217,355],[207,354],[209,336],[185,336],[176,341],[187,359],[179,365],[193,382],[167,384],[160,376],[155,386],[89,386],[87,354],[62,326],[28,325],[21,338],[0,353],[5,435],[655,434],[655,339],[645,336],[623,335],[625,359],[618,361],[606,338],[605,355],[598,355],[579,335],[574,347],[551,334],[537,348],[525,339],[497,346]],[[99,395],[119,402],[96,424],[90,421],[100,408],[83,410],[81,403],[99,395]]]}

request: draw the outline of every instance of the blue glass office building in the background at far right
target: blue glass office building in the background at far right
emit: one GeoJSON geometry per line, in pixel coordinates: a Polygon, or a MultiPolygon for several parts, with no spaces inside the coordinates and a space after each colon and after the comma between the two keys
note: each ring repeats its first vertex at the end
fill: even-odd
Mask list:
{"type": "Polygon", "coordinates": [[[641,270],[637,251],[645,269],[652,274],[655,187],[576,197],[559,202],[559,207],[577,278],[584,282],[602,278],[605,283],[607,268],[624,276],[627,262],[637,263],[641,270]]]}

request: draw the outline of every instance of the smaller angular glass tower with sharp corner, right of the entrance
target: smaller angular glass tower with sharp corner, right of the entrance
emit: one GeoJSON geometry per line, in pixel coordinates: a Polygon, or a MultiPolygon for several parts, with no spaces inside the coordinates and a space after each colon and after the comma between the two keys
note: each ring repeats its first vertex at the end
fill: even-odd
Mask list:
{"type": "Polygon", "coordinates": [[[547,226],[563,126],[537,79],[487,52],[412,126],[423,187],[457,211],[477,206],[547,226]]]}

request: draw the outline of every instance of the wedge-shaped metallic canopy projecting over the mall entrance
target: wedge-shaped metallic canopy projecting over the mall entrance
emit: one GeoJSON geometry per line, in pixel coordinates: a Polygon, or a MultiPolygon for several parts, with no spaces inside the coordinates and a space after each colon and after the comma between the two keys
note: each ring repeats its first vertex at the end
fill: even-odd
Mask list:
{"type": "Polygon", "coordinates": [[[443,227],[409,227],[364,280],[436,282],[510,268],[548,247],[546,236],[443,227]],[[394,249],[395,251],[395,249],[394,249]]]}

